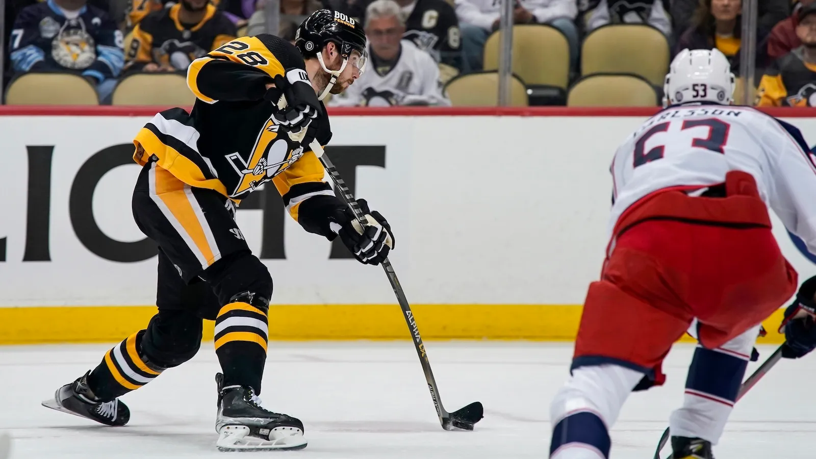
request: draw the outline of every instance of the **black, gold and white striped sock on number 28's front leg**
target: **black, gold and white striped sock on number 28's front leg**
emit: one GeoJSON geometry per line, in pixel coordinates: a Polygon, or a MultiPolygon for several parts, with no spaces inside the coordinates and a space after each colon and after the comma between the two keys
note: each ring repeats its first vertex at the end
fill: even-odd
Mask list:
{"type": "Polygon", "coordinates": [[[268,340],[266,310],[243,301],[224,305],[215,319],[215,354],[224,386],[243,385],[260,394],[268,340]]]}

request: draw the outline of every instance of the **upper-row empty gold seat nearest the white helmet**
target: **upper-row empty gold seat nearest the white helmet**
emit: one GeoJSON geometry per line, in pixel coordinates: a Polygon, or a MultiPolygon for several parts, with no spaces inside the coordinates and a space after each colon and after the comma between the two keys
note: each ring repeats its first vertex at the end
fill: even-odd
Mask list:
{"type": "Polygon", "coordinates": [[[669,64],[666,37],[641,24],[605,25],[583,40],[581,74],[636,74],[662,86],[669,64]]]}

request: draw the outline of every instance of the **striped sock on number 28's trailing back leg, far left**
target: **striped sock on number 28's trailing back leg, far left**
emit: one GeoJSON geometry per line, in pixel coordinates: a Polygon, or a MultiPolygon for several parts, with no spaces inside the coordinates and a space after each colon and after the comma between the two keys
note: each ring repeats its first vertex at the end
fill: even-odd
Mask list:
{"type": "Polygon", "coordinates": [[[146,362],[141,355],[144,330],[128,336],[104,354],[102,362],[88,375],[88,385],[103,401],[113,400],[153,381],[164,368],[146,362]]]}

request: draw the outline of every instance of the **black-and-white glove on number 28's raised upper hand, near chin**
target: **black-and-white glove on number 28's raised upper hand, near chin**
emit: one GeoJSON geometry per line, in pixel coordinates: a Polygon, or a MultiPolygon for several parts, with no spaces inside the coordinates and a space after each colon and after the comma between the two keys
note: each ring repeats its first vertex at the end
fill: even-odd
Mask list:
{"type": "Polygon", "coordinates": [[[277,105],[281,96],[286,97],[286,106],[273,114],[278,124],[289,127],[292,134],[299,134],[292,140],[308,145],[314,140],[314,129],[309,129],[313,120],[322,115],[320,100],[317,100],[312,83],[304,69],[287,69],[285,75],[274,78],[275,87],[266,92],[265,99],[277,105]]]}

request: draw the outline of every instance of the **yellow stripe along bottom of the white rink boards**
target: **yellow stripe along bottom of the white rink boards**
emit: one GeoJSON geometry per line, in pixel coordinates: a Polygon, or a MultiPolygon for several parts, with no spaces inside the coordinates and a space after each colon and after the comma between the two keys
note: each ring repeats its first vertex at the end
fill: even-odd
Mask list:
{"type": "MultiPolygon", "coordinates": [[[[425,340],[573,341],[579,305],[411,305],[425,340]]],[[[147,327],[156,306],[0,308],[0,344],[119,342],[147,327]],[[37,327],[31,327],[36,323],[37,327]]],[[[762,344],[782,344],[783,310],[765,320],[762,344]]],[[[410,340],[398,305],[271,305],[269,340],[410,340]]],[[[215,323],[204,321],[204,339],[215,323]]],[[[681,341],[693,341],[685,337],[681,341]]]]}

